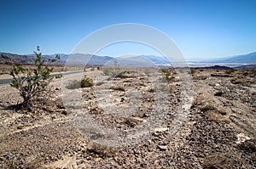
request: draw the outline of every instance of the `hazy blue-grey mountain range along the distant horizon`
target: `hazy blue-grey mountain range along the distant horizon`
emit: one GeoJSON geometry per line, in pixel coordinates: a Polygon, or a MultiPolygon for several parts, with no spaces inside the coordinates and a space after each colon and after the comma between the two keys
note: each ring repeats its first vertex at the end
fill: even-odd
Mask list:
{"type": "MultiPolygon", "coordinates": [[[[120,66],[152,66],[152,65],[169,65],[169,59],[163,56],[154,55],[136,55],[125,58],[113,58],[110,56],[98,56],[92,54],[60,54],[61,60],[56,64],[64,65],[66,62],[70,65],[114,65],[120,66]]],[[[9,54],[0,53],[0,64],[11,64],[19,62],[21,64],[32,64],[35,55],[27,54],[9,54]]],[[[55,54],[43,55],[44,59],[53,59],[55,54]]],[[[171,60],[172,61],[172,60],[171,60]]],[[[215,59],[189,59],[189,65],[256,65],[256,52],[251,54],[243,54],[230,57],[222,57],[215,59]]],[[[173,64],[173,63],[172,63],[173,64]]]]}

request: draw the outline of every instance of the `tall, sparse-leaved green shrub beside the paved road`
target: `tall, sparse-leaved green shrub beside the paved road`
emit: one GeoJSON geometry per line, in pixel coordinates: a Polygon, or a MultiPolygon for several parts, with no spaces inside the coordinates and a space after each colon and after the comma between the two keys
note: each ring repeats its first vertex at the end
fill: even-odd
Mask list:
{"type": "Polygon", "coordinates": [[[53,67],[43,66],[45,61],[55,62],[56,59],[60,59],[59,55],[56,55],[55,59],[42,59],[39,47],[34,54],[36,54],[36,58],[34,59],[33,68],[25,69],[22,65],[16,63],[10,71],[10,75],[13,76],[10,86],[20,91],[20,96],[23,99],[22,107],[32,106],[33,100],[38,98],[40,94],[49,92],[49,83],[54,77],[61,77],[50,76],[53,67]]]}

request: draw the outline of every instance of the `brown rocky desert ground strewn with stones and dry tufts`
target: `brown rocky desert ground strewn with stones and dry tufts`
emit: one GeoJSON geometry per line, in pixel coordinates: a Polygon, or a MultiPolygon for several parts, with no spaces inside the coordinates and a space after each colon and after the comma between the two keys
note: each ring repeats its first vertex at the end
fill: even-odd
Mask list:
{"type": "Polygon", "coordinates": [[[0,168],[255,168],[255,70],[183,71],[86,70],[26,111],[0,86],[0,168]]]}

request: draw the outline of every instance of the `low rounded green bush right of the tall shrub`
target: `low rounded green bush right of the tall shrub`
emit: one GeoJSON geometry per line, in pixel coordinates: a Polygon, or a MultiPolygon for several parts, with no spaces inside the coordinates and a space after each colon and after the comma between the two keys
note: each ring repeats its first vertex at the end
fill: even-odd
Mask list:
{"type": "Polygon", "coordinates": [[[93,81],[86,75],[84,75],[84,78],[81,81],[73,80],[73,82],[69,82],[67,85],[68,89],[75,89],[75,88],[84,88],[84,87],[92,87],[93,81]]]}

